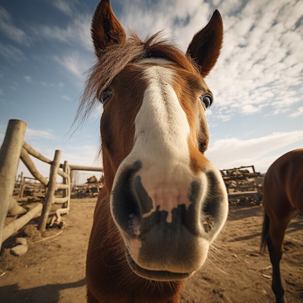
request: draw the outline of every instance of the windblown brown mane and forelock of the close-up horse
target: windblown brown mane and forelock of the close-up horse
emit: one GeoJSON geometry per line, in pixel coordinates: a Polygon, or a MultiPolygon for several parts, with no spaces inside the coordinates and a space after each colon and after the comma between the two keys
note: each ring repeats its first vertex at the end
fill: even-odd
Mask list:
{"type": "Polygon", "coordinates": [[[85,88],[76,111],[76,120],[83,122],[90,115],[95,101],[128,63],[144,58],[163,58],[198,74],[197,65],[182,50],[167,42],[161,31],[142,41],[134,31],[119,44],[110,44],[97,53],[97,62],[87,71],[85,88]]]}

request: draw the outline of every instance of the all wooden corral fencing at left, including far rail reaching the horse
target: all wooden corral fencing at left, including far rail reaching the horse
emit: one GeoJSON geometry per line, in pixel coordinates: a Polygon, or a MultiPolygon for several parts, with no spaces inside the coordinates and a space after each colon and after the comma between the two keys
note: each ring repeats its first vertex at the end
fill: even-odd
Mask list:
{"type": "Polygon", "coordinates": [[[69,165],[67,161],[61,164],[61,151],[59,150],[55,151],[53,160],[48,159],[23,141],[26,127],[24,121],[10,120],[0,150],[0,248],[3,241],[25,226],[31,219],[39,216],[40,213],[38,228],[43,232],[53,204],[61,204],[61,208],[55,211],[49,226],[61,222],[61,215],[67,214],[70,210],[74,170],[103,171],[102,167],[69,165]],[[38,171],[30,155],[50,165],[48,178],[38,171]],[[33,178],[23,177],[23,173],[21,173],[15,180],[19,159],[29,169],[33,178]],[[62,183],[57,182],[58,175],[62,177],[62,183]],[[25,193],[30,196],[24,195],[25,193]],[[14,194],[18,197],[13,198],[14,194]],[[18,205],[17,201],[26,201],[29,198],[37,200],[37,197],[42,199],[43,203],[37,204],[29,212],[23,214],[26,210],[18,205]],[[4,227],[5,218],[9,212],[23,215],[4,227]]]}

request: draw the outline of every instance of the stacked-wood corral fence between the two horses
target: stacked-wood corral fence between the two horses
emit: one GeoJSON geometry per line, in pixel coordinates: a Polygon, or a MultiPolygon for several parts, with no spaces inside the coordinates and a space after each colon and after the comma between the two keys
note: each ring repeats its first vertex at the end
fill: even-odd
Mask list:
{"type": "Polygon", "coordinates": [[[261,202],[264,176],[256,172],[253,165],[223,169],[221,174],[227,187],[230,206],[236,206],[239,202],[261,202]]]}

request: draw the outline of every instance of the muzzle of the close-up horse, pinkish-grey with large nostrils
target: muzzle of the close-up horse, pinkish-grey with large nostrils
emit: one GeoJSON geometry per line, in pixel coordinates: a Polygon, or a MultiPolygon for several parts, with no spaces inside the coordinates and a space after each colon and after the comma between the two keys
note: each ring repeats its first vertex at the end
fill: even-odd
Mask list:
{"type": "Polygon", "coordinates": [[[227,217],[220,173],[211,166],[198,176],[147,182],[141,161],[120,168],[111,212],[129,266],[153,280],[178,280],[197,271],[227,217]]]}

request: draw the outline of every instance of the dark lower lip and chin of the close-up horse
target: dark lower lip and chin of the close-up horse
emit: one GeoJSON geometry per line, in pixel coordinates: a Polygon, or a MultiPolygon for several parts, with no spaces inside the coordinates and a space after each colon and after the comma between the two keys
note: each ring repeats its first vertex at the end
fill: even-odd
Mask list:
{"type": "Polygon", "coordinates": [[[149,279],[149,280],[155,280],[155,281],[176,281],[181,280],[189,277],[193,273],[172,273],[169,271],[151,271],[145,268],[140,267],[131,257],[129,251],[127,248],[126,250],[126,259],[128,262],[128,265],[133,270],[134,273],[136,273],[138,276],[149,279]]]}

